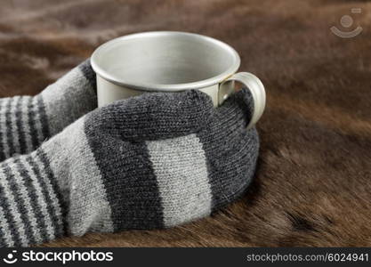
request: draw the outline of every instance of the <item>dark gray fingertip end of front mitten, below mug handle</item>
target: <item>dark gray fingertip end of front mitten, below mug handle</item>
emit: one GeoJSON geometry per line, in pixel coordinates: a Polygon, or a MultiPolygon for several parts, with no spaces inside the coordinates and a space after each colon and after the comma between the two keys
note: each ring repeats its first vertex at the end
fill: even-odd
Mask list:
{"type": "Polygon", "coordinates": [[[249,108],[240,91],[215,109],[197,135],[203,144],[213,192],[213,211],[238,198],[254,176],[259,151],[256,129],[246,130],[249,108]]]}

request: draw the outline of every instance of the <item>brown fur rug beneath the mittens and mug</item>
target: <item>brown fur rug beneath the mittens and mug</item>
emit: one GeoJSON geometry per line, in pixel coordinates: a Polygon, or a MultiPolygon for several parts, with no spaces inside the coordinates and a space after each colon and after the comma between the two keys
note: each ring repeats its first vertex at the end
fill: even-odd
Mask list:
{"type": "MultiPolygon", "coordinates": [[[[234,46],[266,86],[244,198],[196,223],[48,247],[371,246],[371,3],[2,0],[0,96],[35,94],[115,36],[181,30],[234,46]],[[361,8],[352,14],[351,8],[361,8]],[[335,36],[343,15],[359,36],[335,36]]],[[[349,30],[349,29],[347,29],[349,30]]]]}

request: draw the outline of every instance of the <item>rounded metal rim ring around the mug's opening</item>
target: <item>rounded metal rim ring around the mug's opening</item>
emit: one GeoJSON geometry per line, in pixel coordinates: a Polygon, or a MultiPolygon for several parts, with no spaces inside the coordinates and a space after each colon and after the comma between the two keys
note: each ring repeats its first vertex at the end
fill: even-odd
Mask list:
{"type": "Polygon", "coordinates": [[[201,89],[201,88],[205,88],[211,85],[217,85],[219,83],[222,83],[222,81],[226,80],[227,78],[229,78],[230,76],[232,76],[234,73],[237,72],[241,60],[240,60],[240,57],[237,51],[233,47],[231,47],[230,44],[226,44],[220,40],[214,39],[213,37],[203,36],[203,35],[189,33],[189,32],[181,32],[181,31],[147,31],[147,32],[141,32],[141,33],[131,34],[127,36],[119,36],[104,44],[101,44],[93,52],[90,61],[91,61],[92,68],[97,75],[99,75],[100,77],[104,78],[105,80],[115,85],[126,86],[126,87],[143,90],[143,91],[175,92],[175,91],[182,91],[182,90],[188,90],[188,89],[201,89]],[[114,75],[110,74],[108,71],[102,69],[97,63],[98,58],[101,56],[101,53],[103,53],[105,49],[108,49],[109,46],[115,45],[119,42],[125,42],[125,40],[142,37],[142,36],[166,36],[166,35],[167,36],[173,36],[173,35],[194,36],[194,37],[201,38],[205,40],[206,42],[218,45],[224,51],[230,53],[230,55],[232,55],[233,57],[233,62],[232,64],[230,64],[228,69],[225,69],[222,73],[218,74],[217,76],[199,80],[197,82],[172,84],[172,85],[148,84],[148,83],[141,83],[140,81],[125,82],[125,79],[115,77],[114,75]]]}

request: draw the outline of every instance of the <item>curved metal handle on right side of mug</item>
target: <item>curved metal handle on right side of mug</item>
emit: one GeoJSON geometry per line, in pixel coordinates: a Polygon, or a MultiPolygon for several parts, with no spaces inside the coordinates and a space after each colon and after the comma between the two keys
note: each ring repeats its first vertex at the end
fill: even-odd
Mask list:
{"type": "Polygon", "coordinates": [[[254,76],[254,74],[251,74],[249,72],[238,72],[232,75],[231,77],[229,77],[228,79],[224,80],[222,84],[220,85],[221,90],[219,90],[219,96],[218,96],[219,105],[221,105],[222,102],[225,101],[230,96],[230,93],[232,93],[232,92],[226,92],[226,90],[228,90],[227,88],[230,88],[230,86],[223,86],[223,85],[225,85],[226,83],[235,82],[235,81],[246,86],[247,89],[250,90],[251,95],[253,96],[253,100],[254,100],[253,116],[251,117],[251,120],[247,125],[247,129],[250,129],[256,124],[259,118],[262,117],[262,112],[265,109],[265,98],[266,97],[265,97],[264,85],[262,85],[262,81],[258,77],[254,76]],[[226,89],[223,90],[222,89],[223,87],[226,89]]]}

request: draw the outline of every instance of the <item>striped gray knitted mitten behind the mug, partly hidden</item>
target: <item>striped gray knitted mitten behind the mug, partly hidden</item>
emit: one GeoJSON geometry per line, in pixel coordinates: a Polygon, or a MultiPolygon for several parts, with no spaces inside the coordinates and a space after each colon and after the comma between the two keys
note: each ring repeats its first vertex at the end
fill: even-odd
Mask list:
{"type": "Polygon", "coordinates": [[[96,107],[95,74],[89,60],[36,96],[0,99],[0,161],[36,150],[96,107]]]}

